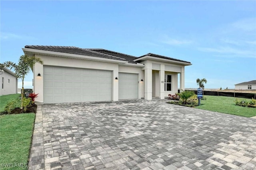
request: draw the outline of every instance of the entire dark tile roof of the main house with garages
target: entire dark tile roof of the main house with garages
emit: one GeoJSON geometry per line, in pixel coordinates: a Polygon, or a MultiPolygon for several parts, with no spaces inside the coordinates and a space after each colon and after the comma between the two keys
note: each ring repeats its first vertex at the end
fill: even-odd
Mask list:
{"type": "Polygon", "coordinates": [[[184,65],[191,65],[191,63],[188,61],[166,57],[163,55],[157,55],[153,53],[148,53],[140,57],[135,57],[132,55],[127,55],[124,53],[118,53],[115,51],[110,51],[107,49],[100,49],[100,48],[79,48],[79,47],[70,47],[70,46],[47,46],[47,45],[26,45],[25,48],[38,49],[38,50],[44,50],[44,51],[54,51],[54,52],[60,52],[60,53],[86,55],[86,56],[100,57],[100,58],[106,58],[106,59],[115,59],[120,61],[128,61],[128,63],[134,63],[134,64],[140,63],[140,61],[142,61],[142,59],[140,60],[140,58],[145,56],[150,56],[150,57],[156,57],[160,59],[167,59],[170,61],[183,62],[184,65]]]}

